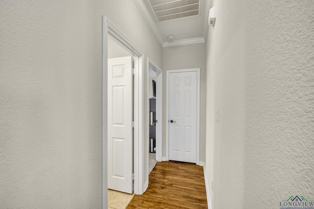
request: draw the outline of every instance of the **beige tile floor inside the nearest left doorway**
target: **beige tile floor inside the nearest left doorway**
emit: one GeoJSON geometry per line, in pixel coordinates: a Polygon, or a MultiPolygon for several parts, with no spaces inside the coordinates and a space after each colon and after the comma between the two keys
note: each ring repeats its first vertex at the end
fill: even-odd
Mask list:
{"type": "Polygon", "coordinates": [[[108,209],[125,209],[133,198],[133,194],[127,194],[108,189],[108,209]]]}

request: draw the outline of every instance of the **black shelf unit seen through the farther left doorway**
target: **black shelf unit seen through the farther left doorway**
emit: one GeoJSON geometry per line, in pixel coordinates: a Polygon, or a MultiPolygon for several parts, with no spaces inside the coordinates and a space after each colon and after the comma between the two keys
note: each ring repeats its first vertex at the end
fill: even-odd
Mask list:
{"type": "Polygon", "coordinates": [[[149,152],[156,153],[156,97],[149,99],[149,152]]]}

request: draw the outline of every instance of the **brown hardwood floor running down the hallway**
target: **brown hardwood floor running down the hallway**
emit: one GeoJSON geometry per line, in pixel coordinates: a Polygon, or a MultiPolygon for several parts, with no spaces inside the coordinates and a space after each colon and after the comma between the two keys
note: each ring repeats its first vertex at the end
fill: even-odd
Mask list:
{"type": "Polygon", "coordinates": [[[143,195],[127,209],[207,209],[203,167],[192,163],[158,162],[143,195]]]}

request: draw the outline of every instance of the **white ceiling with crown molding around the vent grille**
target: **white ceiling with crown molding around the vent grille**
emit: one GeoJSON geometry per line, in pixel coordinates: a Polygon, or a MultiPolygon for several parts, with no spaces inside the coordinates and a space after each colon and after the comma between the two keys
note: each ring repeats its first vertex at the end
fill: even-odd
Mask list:
{"type": "MultiPolygon", "coordinates": [[[[200,0],[200,15],[161,22],[157,22],[157,19],[149,6],[149,0],[134,1],[154,31],[161,46],[177,46],[205,42],[211,0],[200,0]],[[167,37],[169,35],[174,35],[174,40],[168,40],[167,37]]],[[[169,2],[170,0],[167,1],[169,2]]]]}

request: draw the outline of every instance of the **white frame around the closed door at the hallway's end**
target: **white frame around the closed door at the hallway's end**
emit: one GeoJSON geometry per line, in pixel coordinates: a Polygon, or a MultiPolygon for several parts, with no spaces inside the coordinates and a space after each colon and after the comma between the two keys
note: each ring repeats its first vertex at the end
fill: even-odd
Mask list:
{"type": "Polygon", "coordinates": [[[196,119],[196,164],[200,165],[200,68],[167,70],[166,83],[166,160],[169,161],[169,74],[172,72],[197,73],[197,119],[196,119]]]}

